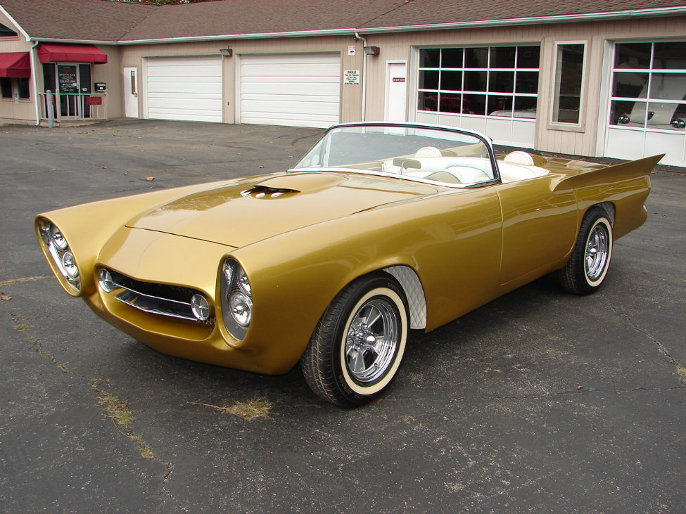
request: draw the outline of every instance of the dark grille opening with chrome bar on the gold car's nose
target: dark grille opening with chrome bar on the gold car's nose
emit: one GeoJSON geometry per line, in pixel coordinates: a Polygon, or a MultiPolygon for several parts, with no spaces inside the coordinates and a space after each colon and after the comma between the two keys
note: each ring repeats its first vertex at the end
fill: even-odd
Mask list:
{"type": "Polygon", "coordinates": [[[158,284],[134,280],[108,269],[114,284],[115,300],[141,311],[172,318],[189,319],[198,323],[214,324],[214,318],[200,321],[193,316],[191,297],[202,295],[200,291],[180,285],[158,284]],[[117,292],[117,289],[122,291],[117,292]]]}

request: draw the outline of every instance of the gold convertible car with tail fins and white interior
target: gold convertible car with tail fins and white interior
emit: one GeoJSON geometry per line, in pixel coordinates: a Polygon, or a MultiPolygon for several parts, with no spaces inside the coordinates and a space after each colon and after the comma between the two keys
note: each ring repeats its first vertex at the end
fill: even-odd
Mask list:
{"type": "Polygon", "coordinates": [[[594,293],[660,158],[495,155],[472,131],[339,124],[286,172],[46,212],[35,230],[64,290],[133,338],[257,373],[300,362],[315,394],[354,406],[388,388],[410,329],[553,271],[594,293]]]}

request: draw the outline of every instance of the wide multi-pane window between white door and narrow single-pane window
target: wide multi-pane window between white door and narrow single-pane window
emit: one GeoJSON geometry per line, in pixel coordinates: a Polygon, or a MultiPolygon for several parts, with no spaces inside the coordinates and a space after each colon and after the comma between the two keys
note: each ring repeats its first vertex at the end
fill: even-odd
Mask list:
{"type": "Polygon", "coordinates": [[[535,118],[540,46],[419,51],[419,110],[535,118]]]}

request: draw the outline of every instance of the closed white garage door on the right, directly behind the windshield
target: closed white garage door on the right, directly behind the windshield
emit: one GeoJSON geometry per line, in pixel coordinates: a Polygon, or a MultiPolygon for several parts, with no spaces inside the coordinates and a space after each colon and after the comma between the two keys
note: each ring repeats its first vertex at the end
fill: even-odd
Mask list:
{"type": "Polygon", "coordinates": [[[241,56],[241,123],[329,127],[340,96],[337,53],[241,56]]]}

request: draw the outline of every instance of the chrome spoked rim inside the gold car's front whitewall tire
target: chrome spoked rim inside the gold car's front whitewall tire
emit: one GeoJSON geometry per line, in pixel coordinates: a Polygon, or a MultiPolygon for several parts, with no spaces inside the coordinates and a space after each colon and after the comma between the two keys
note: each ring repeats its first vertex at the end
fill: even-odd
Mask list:
{"type": "Polygon", "coordinates": [[[374,382],[393,362],[400,336],[395,304],[372,298],[353,315],[345,337],[345,365],[354,380],[374,382]]]}

